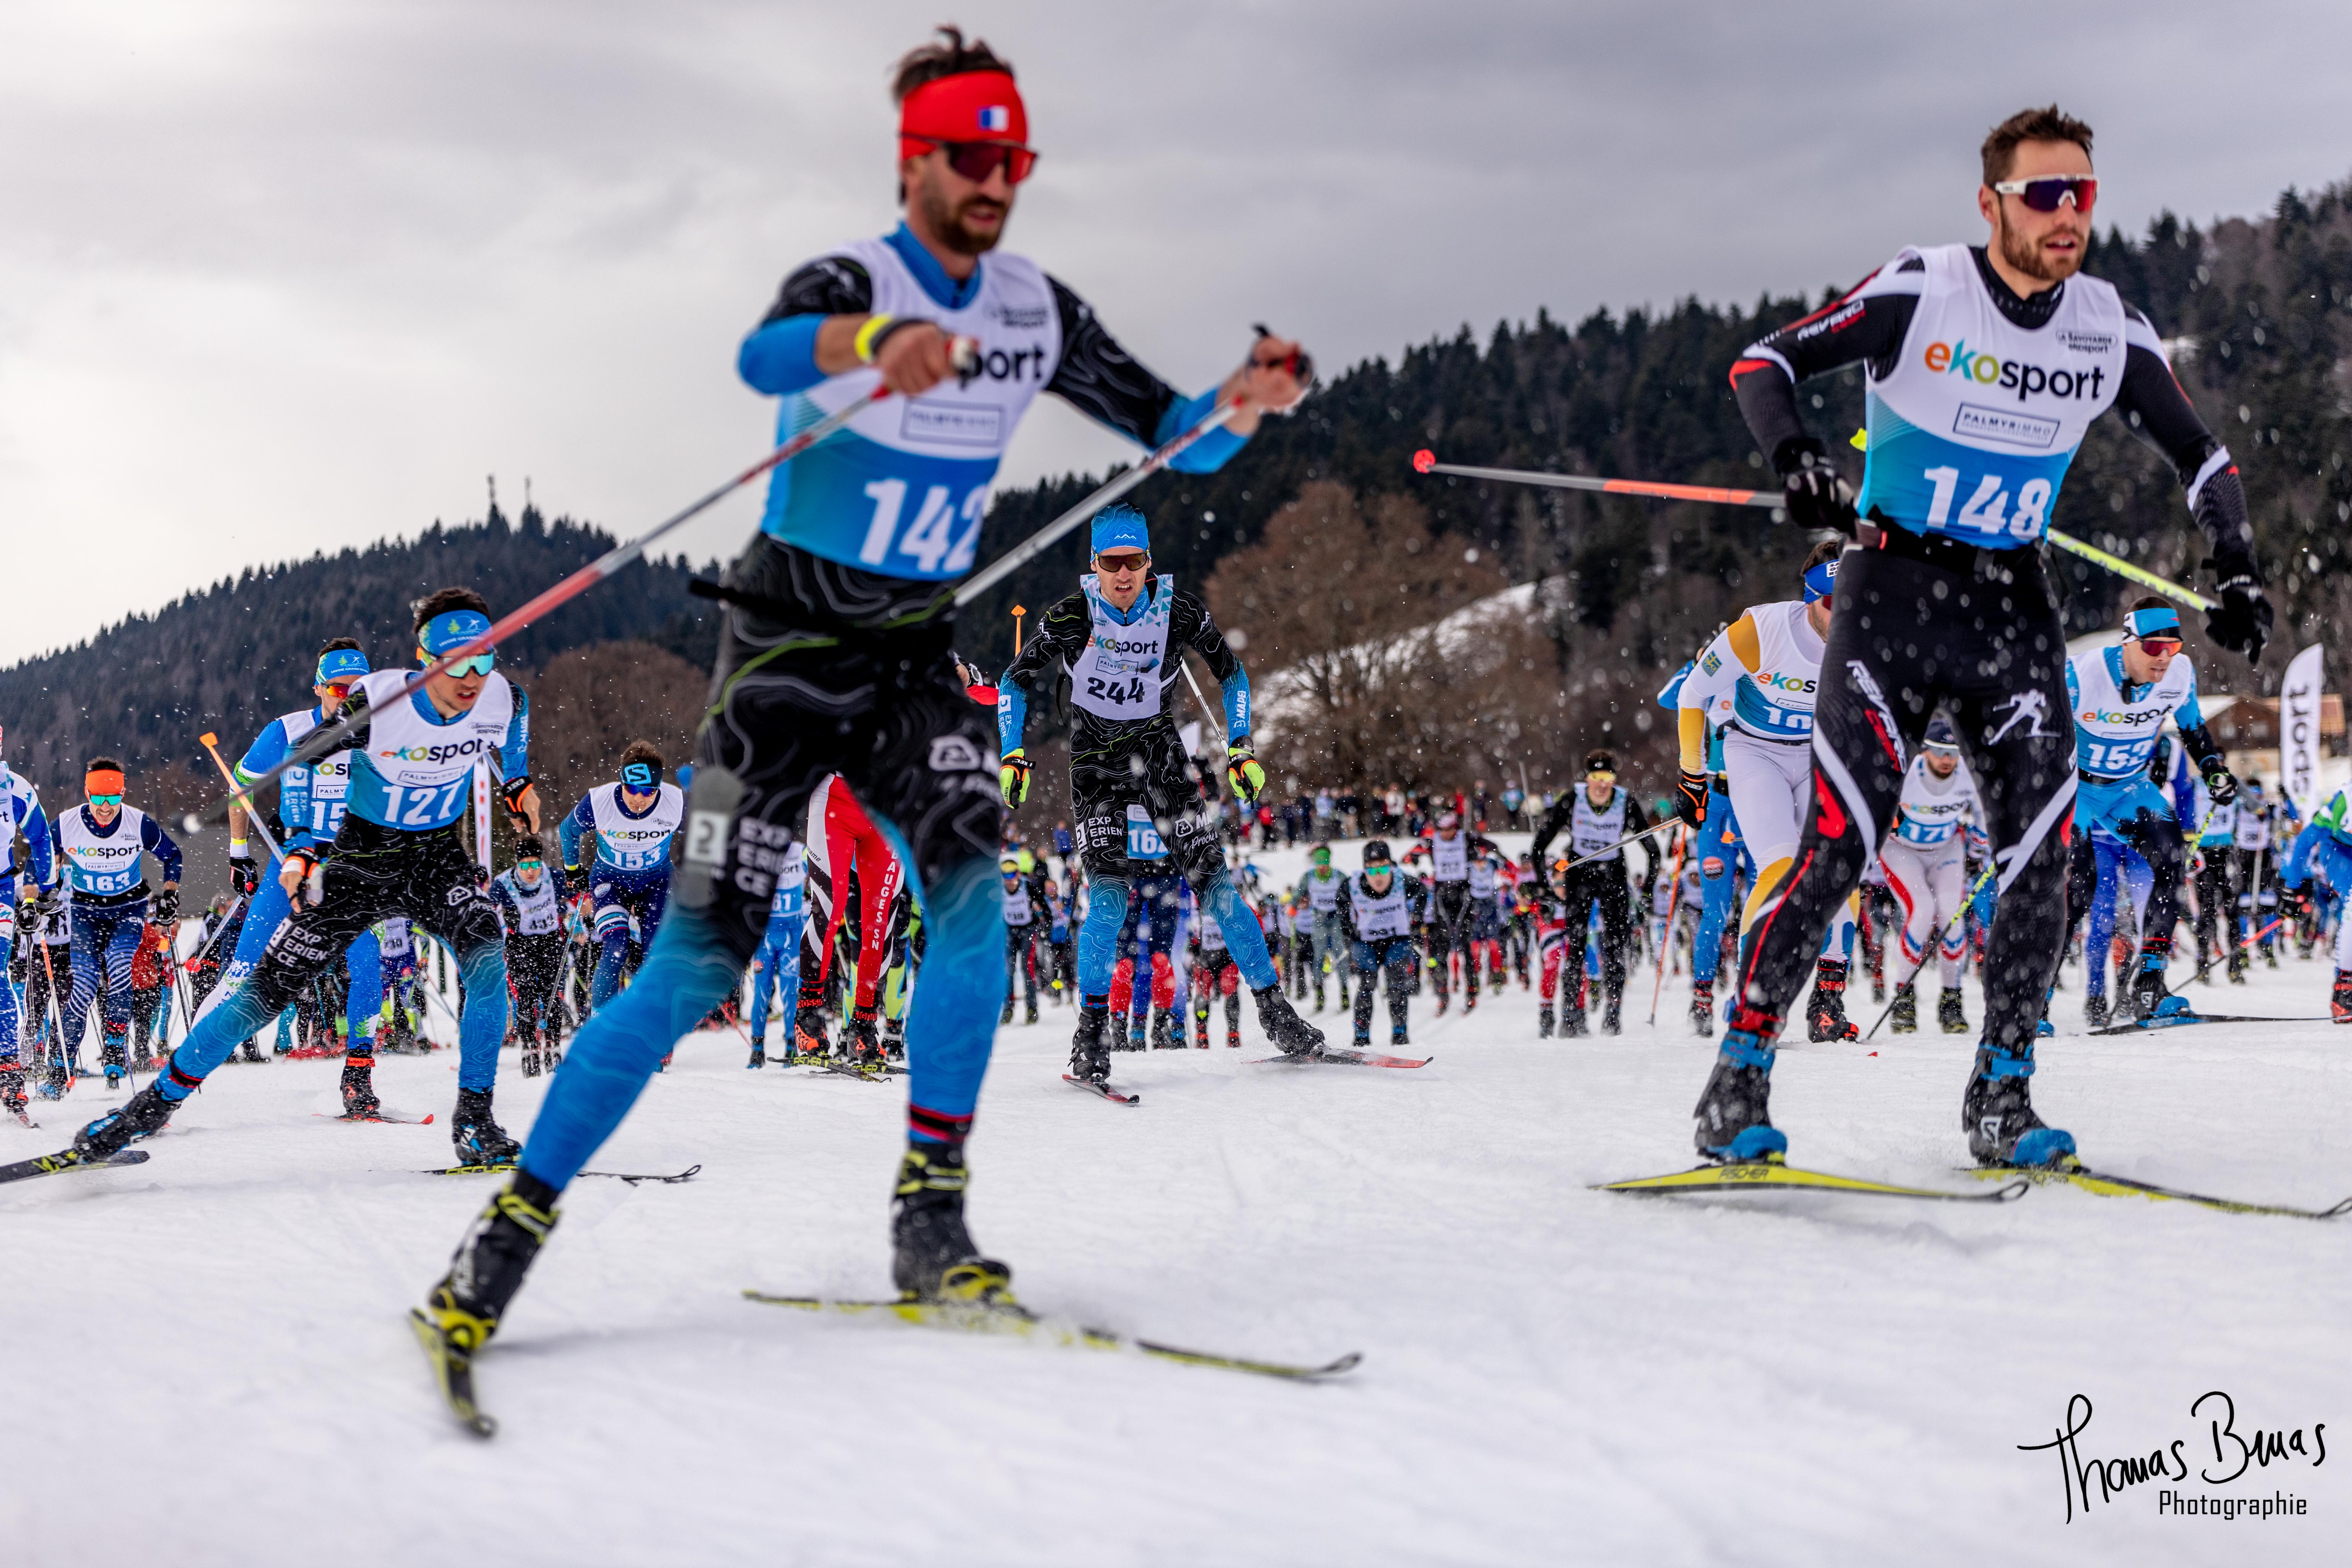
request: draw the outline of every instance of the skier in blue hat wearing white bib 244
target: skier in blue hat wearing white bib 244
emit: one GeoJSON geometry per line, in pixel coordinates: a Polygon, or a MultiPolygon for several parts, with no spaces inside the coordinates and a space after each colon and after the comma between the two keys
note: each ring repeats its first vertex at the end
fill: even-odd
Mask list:
{"type": "MultiPolygon", "coordinates": [[[[1312,1053],[1322,1046],[1322,1030],[1282,994],[1282,976],[1258,922],[1225,870],[1216,816],[1202,811],[1171,715],[1183,651],[1192,649],[1223,689],[1225,778],[1235,799],[1254,802],[1265,788],[1265,769],[1249,745],[1249,675],[1225,646],[1209,607],[1178,592],[1174,576],[1152,578],[1143,512],[1103,508],[1094,515],[1091,545],[1094,571],[1080,578],[1080,592],[1044,611],[1037,635],[997,682],[1004,804],[1018,806],[1030,773],[1023,750],[1028,703],[1044,696],[1063,670],[1070,677],[1070,802],[1077,806],[1077,853],[1089,886],[1087,924],[1077,933],[1080,1013],[1070,1074],[1091,1081],[1110,1074],[1103,1030],[1110,1023],[1112,943],[1136,879],[1152,870],[1185,877],[1200,905],[1216,914],[1258,1004],[1265,1037],[1287,1056],[1312,1053]]],[[[1157,926],[1160,912],[1152,910],[1157,926]]],[[[1155,1044],[1157,1027],[1155,1020],[1155,1044]]]]}

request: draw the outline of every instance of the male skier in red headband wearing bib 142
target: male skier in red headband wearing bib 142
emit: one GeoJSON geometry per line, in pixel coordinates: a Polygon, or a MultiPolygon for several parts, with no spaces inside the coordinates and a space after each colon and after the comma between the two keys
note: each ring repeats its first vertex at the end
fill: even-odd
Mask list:
{"type": "Polygon", "coordinates": [[[1035,153],[1011,68],[943,31],[896,73],[906,223],[795,270],[739,367],[786,397],[781,428],[870,397],[842,435],[776,468],[760,538],[734,562],[696,741],[677,907],[640,983],[576,1037],[515,1178],[433,1286],[428,1331],[477,1349],[555,1225],[555,1199],[628,1114],[661,1056],[760,947],[783,853],[826,773],[898,835],[929,952],[908,1023],[908,1150],[891,1215],[898,1288],[990,1298],[1009,1269],[964,1227],[964,1140],[1004,987],[985,715],[955,675],[953,583],[978,552],[988,487],[1037,393],[1136,442],[1167,442],[1247,397],[1174,468],[1218,468],[1261,411],[1303,395],[1298,348],[1265,336],[1197,400],[1145,371],[1035,263],[995,252],[1035,153]],[[953,346],[976,341],[969,374],[953,346]]]}

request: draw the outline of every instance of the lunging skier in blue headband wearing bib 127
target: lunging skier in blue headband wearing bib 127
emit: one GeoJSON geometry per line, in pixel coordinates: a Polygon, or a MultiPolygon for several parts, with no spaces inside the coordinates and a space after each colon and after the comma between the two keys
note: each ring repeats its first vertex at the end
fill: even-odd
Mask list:
{"type": "MultiPolygon", "coordinates": [[[[414,630],[419,663],[428,663],[487,632],[489,607],[470,588],[442,588],[416,602],[414,630]]],[[[522,691],[496,675],[494,663],[494,654],[473,654],[414,696],[402,696],[409,670],[360,675],[343,701],[343,717],[358,719],[350,736],[322,743],[329,731],[320,729],[296,743],[296,764],[315,764],[327,748],[348,750],[343,827],[332,844],[287,851],[278,882],[294,914],[270,936],[245,987],[198,1020],[165,1072],[75,1135],[82,1159],[106,1159],[132,1138],[160,1131],[240,1039],[294,1001],[362,931],[386,914],[407,914],[449,943],[466,985],[456,1114],[449,1119],[459,1164],[513,1161],[517,1145],[492,1114],[508,1016],[506,945],[499,905],[475,877],[480,867],[461,818],[482,757],[503,776],[499,795],[517,832],[539,832],[539,790],[527,771],[522,691]]],[[[362,1088],[360,1105],[374,1114],[374,1091],[362,1088]]],[[[353,1105],[348,1079],[343,1103],[353,1105]]]]}

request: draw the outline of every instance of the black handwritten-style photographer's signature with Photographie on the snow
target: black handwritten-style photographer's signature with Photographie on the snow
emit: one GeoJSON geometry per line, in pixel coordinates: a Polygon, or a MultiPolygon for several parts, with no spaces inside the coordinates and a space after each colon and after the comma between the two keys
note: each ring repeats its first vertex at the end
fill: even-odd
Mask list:
{"type": "Polygon", "coordinates": [[[2084,1514],[2093,1502],[2114,1502],[2136,1486],[2157,1488],[2159,1514],[2209,1514],[2218,1519],[2277,1519],[2310,1512],[2310,1502],[2293,1493],[2270,1497],[2206,1497],[2197,1490],[2183,1493],[2192,1481],[2204,1486],[2232,1486],[2249,1469],[2267,1472],[2272,1465],[2310,1465],[2319,1469],[2328,1462],[2328,1427],[2312,1422],[2303,1427],[2239,1427],[2237,1401],[2213,1389],[2190,1403],[2190,1436],[2157,1443],[2147,1453],[2126,1453],[2117,1460],[2086,1455],[2084,1432],[2091,1429],[2091,1396],[2074,1394],[2065,1401],[2065,1425],[2051,1427],[2046,1443],[2018,1443],[2020,1453],[2058,1453],[2058,1476],[2065,1486],[2065,1516],[2074,1521],[2077,1505],[2084,1514]]]}

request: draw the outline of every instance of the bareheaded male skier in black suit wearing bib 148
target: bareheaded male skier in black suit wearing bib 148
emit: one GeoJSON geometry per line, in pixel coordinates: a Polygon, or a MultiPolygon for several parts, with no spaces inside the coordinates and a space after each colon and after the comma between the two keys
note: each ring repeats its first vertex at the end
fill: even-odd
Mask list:
{"type": "MultiPolygon", "coordinates": [[[[2074,1140],[2044,1126],[2030,1100],[2074,797],[2065,632],[2034,545],[2098,414],[2129,416],[2173,461],[2213,538],[2213,642],[2256,656],[2272,618],[2227,449],[2173,381],[2147,317],[2077,275],[2096,195],[2091,127],[2056,106],[2013,115],[1983,146],[1985,247],[1905,249],[1731,367],[1790,520],[1856,543],[1820,661],[1797,870],[1743,954],[1740,1006],[1698,1098],[1693,1138],[1710,1159],[1785,1152],[1769,1114],[1780,1023],[1877,851],[1938,705],[1959,731],[2002,867],[1985,1027],[1962,1100],[1969,1152],[1990,1166],[2072,1154],[2074,1140]],[[1797,414],[1797,383],[1856,362],[1870,425],[1863,489],[1849,498],[1797,414]]],[[[1755,832],[1745,813],[1740,825],[1755,832]]]]}

